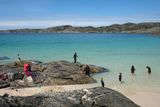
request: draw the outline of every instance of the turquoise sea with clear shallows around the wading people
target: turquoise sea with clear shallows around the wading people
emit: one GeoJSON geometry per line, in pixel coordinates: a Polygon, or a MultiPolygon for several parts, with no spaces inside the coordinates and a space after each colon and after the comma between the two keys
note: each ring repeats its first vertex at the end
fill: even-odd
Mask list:
{"type": "MultiPolygon", "coordinates": [[[[0,64],[22,59],[44,62],[55,60],[73,61],[74,52],[78,61],[106,67],[108,73],[94,75],[98,84],[103,77],[106,86],[114,89],[142,89],[160,91],[160,37],[149,34],[91,34],[91,33],[1,33],[0,64]],[[134,65],[136,75],[130,74],[134,65]],[[146,65],[152,69],[147,74],[146,65]],[[123,74],[119,85],[119,72],[123,74]]],[[[97,84],[97,85],[98,85],[97,84]]]]}

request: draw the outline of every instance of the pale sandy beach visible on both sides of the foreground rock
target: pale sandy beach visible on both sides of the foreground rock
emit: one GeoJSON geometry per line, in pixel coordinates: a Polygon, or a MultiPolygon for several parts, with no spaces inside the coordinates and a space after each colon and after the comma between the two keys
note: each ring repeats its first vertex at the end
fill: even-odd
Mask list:
{"type": "MultiPolygon", "coordinates": [[[[38,93],[44,92],[63,92],[69,90],[76,90],[82,88],[91,88],[93,85],[61,85],[61,86],[43,86],[43,87],[32,87],[23,89],[10,89],[5,88],[0,90],[0,95],[8,93],[11,96],[31,96],[38,93]]],[[[126,97],[131,99],[136,104],[142,107],[159,107],[160,106],[160,93],[158,92],[145,92],[145,91],[132,91],[132,92],[121,92],[126,97]]]]}

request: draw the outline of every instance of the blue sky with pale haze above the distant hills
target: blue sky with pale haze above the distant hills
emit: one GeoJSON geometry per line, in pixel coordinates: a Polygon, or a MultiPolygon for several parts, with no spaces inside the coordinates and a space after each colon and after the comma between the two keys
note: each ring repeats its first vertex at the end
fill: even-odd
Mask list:
{"type": "Polygon", "coordinates": [[[160,22],[160,0],[0,0],[0,29],[160,22]]]}

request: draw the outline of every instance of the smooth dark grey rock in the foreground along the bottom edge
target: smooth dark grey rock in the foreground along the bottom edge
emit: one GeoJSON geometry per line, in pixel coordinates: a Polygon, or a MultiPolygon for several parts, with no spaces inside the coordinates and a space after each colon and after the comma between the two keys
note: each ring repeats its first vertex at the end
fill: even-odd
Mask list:
{"type": "Polygon", "coordinates": [[[0,97],[0,105],[11,107],[139,107],[114,90],[96,87],[29,97],[0,97]]]}

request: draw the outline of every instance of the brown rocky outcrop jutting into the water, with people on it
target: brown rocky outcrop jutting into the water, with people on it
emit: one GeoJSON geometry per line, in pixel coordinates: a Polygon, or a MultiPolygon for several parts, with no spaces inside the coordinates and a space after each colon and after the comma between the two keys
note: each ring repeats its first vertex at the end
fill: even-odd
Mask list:
{"type": "MultiPolygon", "coordinates": [[[[54,61],[42,63],[39,61],[16,61],[13,63],[0,66],[1,73],[23,73],[23,65],[31,65],[32,74],[34,75],[34,84],[22,81],[10,81],[10,86],[28,87],[41,85],[69,85],[69,84],[88,84],[96,82],[95,79],[85,75],[83,71],[85,64],[72,63],[68,61],[54,61]]],[[[89,65],[92,75],[100,72],[109,71],[106,68],[89,65]]],[[[19,74],[16,74],[19,75],[19,74]]],[[[17,77],[18,78],[18,77],[17,77]]]]}

